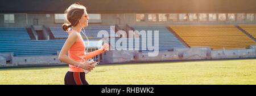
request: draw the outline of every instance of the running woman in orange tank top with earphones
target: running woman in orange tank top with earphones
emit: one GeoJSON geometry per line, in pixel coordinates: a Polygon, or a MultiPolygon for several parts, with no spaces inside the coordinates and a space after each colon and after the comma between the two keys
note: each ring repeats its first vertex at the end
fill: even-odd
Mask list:
{"type": "Polygon", "coordinates": [[[86,8],[79,3],[72,4],[65,11],[65,23],[62,28],[68,32],[69,36],[59,54],[59,60],[69,64],[64,78],[65,85],[89,85],[82,69],[92,71],[94,68],[92,64],[95,62],[87,60],[109,50],[109,45],[105,43],[101,49],[86,53],[86,46],[80,32],[82,28],[88,26],[88,20],[86,8]]]}

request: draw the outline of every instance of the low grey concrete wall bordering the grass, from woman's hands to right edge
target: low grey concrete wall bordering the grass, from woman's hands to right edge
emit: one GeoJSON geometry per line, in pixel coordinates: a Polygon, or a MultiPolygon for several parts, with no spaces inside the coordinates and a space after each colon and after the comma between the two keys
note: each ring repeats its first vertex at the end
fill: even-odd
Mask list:
{"type": "MultiPolygon", "coordinates": [[[[253,47],[253,46],[251,46],[253,47]]],[[[256,46],[251,49],[210,50],[209,47],[193,47],[159,51],[158,56],[148,56],[146,52],[108,51],[104,55],[105,63],[147,62],[163,60],[200,60],[200,59],[229,59],[256,58],[256,46]],[[134,56],[134,57],[133,57],[134,56]]]]}

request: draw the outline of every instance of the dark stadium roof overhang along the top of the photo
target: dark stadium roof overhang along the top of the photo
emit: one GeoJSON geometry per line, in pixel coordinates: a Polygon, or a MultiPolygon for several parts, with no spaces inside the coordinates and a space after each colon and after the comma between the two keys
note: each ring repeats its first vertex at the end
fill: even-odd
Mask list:
{"type": "Polygon", "coordinates": [[[255,0],[1,0],[0,13],[63,13],[80,2],[88,13],[256,12],[255,0]]]}

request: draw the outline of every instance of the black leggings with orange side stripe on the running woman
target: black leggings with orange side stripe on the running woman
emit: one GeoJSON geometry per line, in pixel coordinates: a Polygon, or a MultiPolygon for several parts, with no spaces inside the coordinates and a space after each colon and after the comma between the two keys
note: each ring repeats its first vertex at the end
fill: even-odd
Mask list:
{"type": "Polygon", "coordinates": [[[85,80],[84,72],[67,72],[65,75],[65,85],[89,85],[85,80]]]}

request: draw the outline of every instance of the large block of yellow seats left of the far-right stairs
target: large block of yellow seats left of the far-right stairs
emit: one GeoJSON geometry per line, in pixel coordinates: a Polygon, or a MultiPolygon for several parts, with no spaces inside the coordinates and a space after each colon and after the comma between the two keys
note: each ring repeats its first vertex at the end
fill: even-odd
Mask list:
{"type": "Polygon", "coordinates": [[[246,49],[256,45],[234,25],[171,25],[170,28],[189,47],[210,47],[211,49],[246,49]]]}

